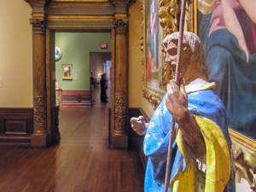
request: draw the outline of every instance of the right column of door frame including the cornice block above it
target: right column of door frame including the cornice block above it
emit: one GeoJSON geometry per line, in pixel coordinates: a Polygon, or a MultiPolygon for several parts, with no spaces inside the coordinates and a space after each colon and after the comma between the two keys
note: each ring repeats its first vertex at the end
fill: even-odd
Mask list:
{"type": "Polygon", "coordinates": [[[113,38],[114,96],[111,110],[110,143],[128,147],[128,17],[135,0],[112,0],[115,8],[113,38]]]}

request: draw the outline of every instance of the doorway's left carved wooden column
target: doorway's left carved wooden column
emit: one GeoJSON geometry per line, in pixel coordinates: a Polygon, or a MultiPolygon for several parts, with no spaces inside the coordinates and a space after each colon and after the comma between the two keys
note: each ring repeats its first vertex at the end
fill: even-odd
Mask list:
{"type": "Polygon", "coordinates": [[[33,28],[34,105],[34,132],[32,134],[32,147],[46,147],[49,143],[46,100],[45,20],[44,11],[42,11],[42,9],[44,9],[44,6],[39,8],[39,12],[33,12],[31,19],[33,28]]]}

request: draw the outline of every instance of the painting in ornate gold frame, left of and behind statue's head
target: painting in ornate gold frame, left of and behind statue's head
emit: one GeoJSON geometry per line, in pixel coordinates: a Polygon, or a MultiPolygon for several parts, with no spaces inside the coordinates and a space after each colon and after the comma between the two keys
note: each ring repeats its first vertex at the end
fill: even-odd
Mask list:
{"type": "MultiPolygon", "coordinates": [[[[185,30],[193,31],[194,6],[187,9],[185,30]]],[[[143,96],[155,109],[166,92],[166,84],[170,80],[169,67],[165,63],[165,53],[161,42],[168,34],[177,32],[179,2],[177,0],[143,1],[143,36],[141,49],[144,53],[143,64],[143,96]],[[155,13],[158,10],[158,14],[155,13]]]]}

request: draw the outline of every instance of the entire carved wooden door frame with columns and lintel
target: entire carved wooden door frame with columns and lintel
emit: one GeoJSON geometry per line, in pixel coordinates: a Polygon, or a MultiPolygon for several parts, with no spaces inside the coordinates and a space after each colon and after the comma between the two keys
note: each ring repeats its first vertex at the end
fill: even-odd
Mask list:
{"type": "Polygon", "coordinates": [[[60,139],[55,127],[50,73],[51,36],[61,30],[107,30],[112,34],[113,84],[109,142],[115,148],[128,147],[128,9],[134,0],[25,0],[32,7],[33,106],[32,147],[46,147],[60,139]],[[125,51],[124,51],[125,50],[125,51]]]}

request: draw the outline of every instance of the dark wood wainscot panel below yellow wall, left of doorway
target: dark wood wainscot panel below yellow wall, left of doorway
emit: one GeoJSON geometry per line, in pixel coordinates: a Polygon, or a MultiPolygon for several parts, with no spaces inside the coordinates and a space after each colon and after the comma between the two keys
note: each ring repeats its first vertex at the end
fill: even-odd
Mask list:
{"type": "Polygon", "coordinates": [[[30,145],[32,133],[32,108],[0,108],[0,144],[30,145]]]}

